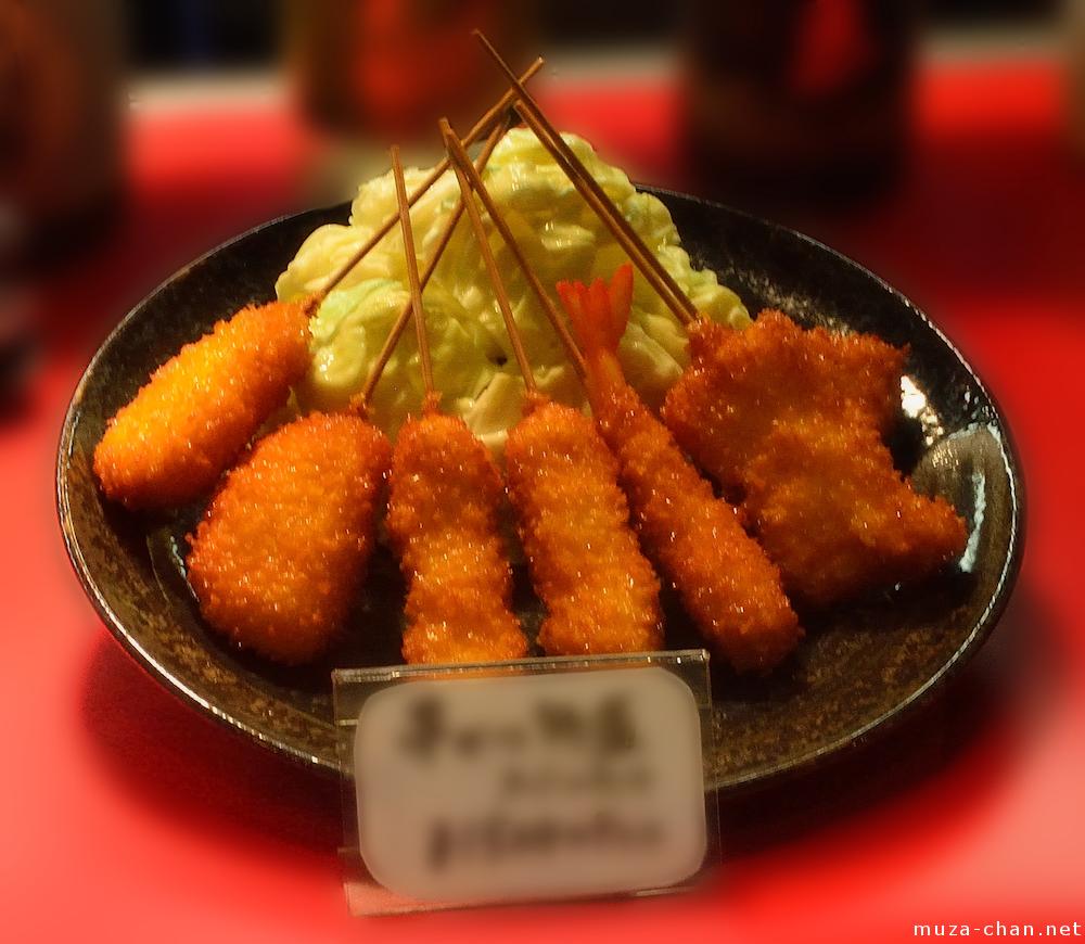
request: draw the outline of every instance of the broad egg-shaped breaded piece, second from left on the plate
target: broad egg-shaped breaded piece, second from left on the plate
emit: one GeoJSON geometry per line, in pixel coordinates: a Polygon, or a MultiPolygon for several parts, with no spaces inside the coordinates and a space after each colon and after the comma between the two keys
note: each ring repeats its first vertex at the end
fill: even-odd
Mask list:
{"type": "Polygon", "coordinates": [[[294,665],[342,632],[365,582],[392,445],[365,420],[311,413],[224,480],[188,559],[204,618],[294,665]]]}

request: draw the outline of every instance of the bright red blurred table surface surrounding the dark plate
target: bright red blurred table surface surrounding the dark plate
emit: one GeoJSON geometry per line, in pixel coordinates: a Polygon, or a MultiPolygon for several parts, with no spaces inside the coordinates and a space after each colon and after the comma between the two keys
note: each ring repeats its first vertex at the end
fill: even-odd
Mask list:
{"type": "MultiPolygon", "coordinates": [[[[68,343],[0,425],[4,939],[844,942],[908,940],[916,923],[975,935],[1085,922],[1085,175],[1047,64],[940,65],[918,92],[899,191],[818,226],[930,311],[1014,432],[1027,551],[988,646],[895,737],[725,807],[731,854],[701,892],[357,921],[335,786],[162,690],[103,628],[62,548],[54,448],[91,340],[188,258],[303,201],[305,139],[279,111],[137,114],[128,213],[42,290],[68,343]]],[[[560,125],[664,183],[675,105],[654,84],[551,95],[560,125]]]]}

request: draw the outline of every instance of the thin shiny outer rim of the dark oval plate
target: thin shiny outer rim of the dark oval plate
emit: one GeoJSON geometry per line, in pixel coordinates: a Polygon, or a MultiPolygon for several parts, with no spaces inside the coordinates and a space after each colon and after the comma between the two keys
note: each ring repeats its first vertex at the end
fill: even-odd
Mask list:
{"type": "MultiPolygon", "coordinates": [[[[856,261],[850,256],[844,255],[840,251],[834,250],[832,246],[827,245],[814,237],[807,235],[806,233],[791,229],[781,224],[758,217],[741,209],[736,209],[735,207],[727,206],[726,204],[697,196],[694,194],[640,183],[634,183],[634,186],[638,191],[648,192],[664,199],[664,202],[666,197],[671,197],[677,202],[694,204],[699,207],[707,208],[713,213],[723,213],[732,217],[740,217],[755,226],[771,230],[774,233],[782,233],[788,239],[797,239],[799,241],[813,247],[815,251],[834,257],[838,263],[843,264],[845,267],[857,270],[859,275],[877,283],[882,291],[894,296],[898,303],[904,304],[911,311],[912,316],[918,317],[926,328],[935,334],[937,340],[956,358],[959,365],[968,373],[971,381],[980,388],[984,397],[986,397],[987,401],[991,404],[994,419],[997,423],[999,447],[1009,482],[1010,508],[1012,510],[1012,514],[1010,520],[1008,551],[1005,560],[1003,561],[1001,571],[998,575],[994,592],[992,594],[987,605],[985,607],[980,618],[972,625],[969,635],[960,642],[953,655],[910,696],[867,722],[860,728],[852,730],[840,738],[830,741],[829,743],[822,744],[799,756],[780,761],[758,770],[752,770],[733,778],[726,778],[706,784],[706,789],[712,792],[738,794],[751,789],[762,789],[769,784],[776,784],[781,780],[796,777],[818,763],[842,757],[845,754],[850,754],[860,749],[876,738],[880,739],[891,733],[907,717],[914,716],[919,709],[931,702],[945,688],[945,686],[960,673],[963,666],[968,664],[971,658],[979,651],[994,630],[995,625],[998,623],[1009,604],[1010,597],[1012,596],[1013,588],[1021,571],[1024,556],[1025,523],[1027,521],[1025,513],[1026,496],[1024,476],[1022,473],[1020,456],[1009,424],[1006,421],[1005,411],[1001,409],[998,400],[991,392],[987,384],[980,377],[975,368],[973,368],[968,359],[961,354],[957,345],[945,334],[945,332],[926,314],[926,311],[919,308],[898,289],[891,285],[876,272],[872,272],[861,263],[856,261]]],[[[64,547],[67,552],[68,563],[75,572],[84,592],[90,599],[90,602],[99,617],[105,624],[111,635],[122,645],[124,650],[128,652],[129,655],[131,655],[137,663],[151,675],[152,678],[163,685],[167,691],[170,691],[176,698],[196,709],[205,717],[212,718],[230,731],[239,735],[245,735],[247,738],[255,740],[263,748],[270,749],[279,755],[299,762],[307,769],[330,776],[337,776],[343,773],[343,768],[337,761],[330,761],[329,758],[312,754],[309,751],[302,750],[295,744],[292,744],[281,738],[270,736],[266,731],[247,724],[246,722],[235,717],[230,712],[219,707],[214,703],[214,701],[203,697],[192,687],[188,686],[180,678],[170,673],[169,669],[152,656],[151,653],[139,643],[139,640],[136,639],[135,636],[123,625],[122,621],[110,605],[108,600],[103,595],[101,588],[98,586],[98,583],[91,575],[90,569],[84,557],[82,549],[79,545],[78,537],[75,533],[71,513],[67,464],[74,445],[75,431],[81,412],[84,394],[95,368],[105,356],[108,348],[113,345],[116,337],[148,305],[150,305],[158,295],[167,291],[173,284],[183,279],[191,269],[224,250],[227,250],[234,243],[241,242],[265,229],[279,226],[289,220],[297,219],[298,217],[329,214],[334,211],[348,209],[349,206],[350,202],[347,201],[340,204],[333,204],[331,206],[310,207],[295,213],[282,214],[251,227],[250,229],[244,230],[243,232],[240,232],[213,246],[196,258],[187,263],[184,266],[163,280],[139,302],[137,302],[106,334],[104,340],[99,344],[90,361],[87,363],[87,367],[79,375],[79,380],[77,381],[72,393],[67,408],[64,411],[64,421],[61,426],[56,448],[54,482],[58,522],[64,539],[64,547]]],[[[293,710],[301,712],[299,709],[293,710]]],[[[334,728],[333,723],[329,723],[329,726],[334,728]]]]}

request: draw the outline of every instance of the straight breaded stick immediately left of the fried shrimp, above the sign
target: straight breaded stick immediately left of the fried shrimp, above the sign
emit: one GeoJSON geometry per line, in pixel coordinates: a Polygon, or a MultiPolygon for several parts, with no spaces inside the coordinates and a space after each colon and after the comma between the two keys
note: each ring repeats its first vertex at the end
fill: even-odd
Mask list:
{"type": "Polygon", "coordinates": [[[629,527],[617,461],[577,410],[544,403],[509,433],[509,497],[550,655],[663,646],[660,584],[629,527]]]}

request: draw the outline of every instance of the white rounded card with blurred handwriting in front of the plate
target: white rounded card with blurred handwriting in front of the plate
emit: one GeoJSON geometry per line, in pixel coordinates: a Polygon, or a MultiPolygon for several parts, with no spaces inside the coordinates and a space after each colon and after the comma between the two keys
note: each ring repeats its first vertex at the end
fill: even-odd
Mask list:
{"type": "Polygon", "coordinates": [[[355,776],[366,866],[421,902],[666,888],[706,851],[697,704],[659,667],[392,686],[355,776]]]}

